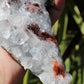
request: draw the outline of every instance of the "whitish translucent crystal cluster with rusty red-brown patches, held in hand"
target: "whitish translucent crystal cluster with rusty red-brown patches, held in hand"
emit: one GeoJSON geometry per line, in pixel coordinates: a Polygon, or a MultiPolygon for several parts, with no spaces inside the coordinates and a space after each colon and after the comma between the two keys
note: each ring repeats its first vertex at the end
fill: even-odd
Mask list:
{"type": "Polygon", "coordinates": [[[0,0],[0,46],[44,84],[70,84],[45,2],[0,0]]]}

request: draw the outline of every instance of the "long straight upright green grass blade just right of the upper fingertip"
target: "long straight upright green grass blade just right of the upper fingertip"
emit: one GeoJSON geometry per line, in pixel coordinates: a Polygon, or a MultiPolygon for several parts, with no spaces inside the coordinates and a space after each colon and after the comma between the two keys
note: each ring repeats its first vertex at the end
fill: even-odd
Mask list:
{"type": "Polygon", "coordinates": [[[67,32],[67,25],[68,25],[68,14],[66,9],[64,9],[64,12],[62,13],[60,19],[59,19],[59,25],[58,25],[58,43],[60,44],[62,40],[66,38],[66,32],[67,32]]]}

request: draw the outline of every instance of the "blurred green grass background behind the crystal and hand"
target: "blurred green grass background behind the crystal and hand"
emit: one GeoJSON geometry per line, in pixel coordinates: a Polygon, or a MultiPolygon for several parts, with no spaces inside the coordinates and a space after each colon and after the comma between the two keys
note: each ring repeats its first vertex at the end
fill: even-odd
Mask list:
{"type": "MultiPolygon", "coordinates": [[[[66,0],[65,9],[53,31],[60,47],[71,84],[84,84],[84,0],[66,0]]],[[[27,70],[23,84],[42,84],[27,70]]]]}

